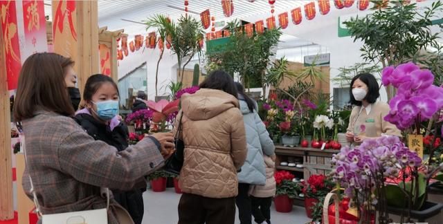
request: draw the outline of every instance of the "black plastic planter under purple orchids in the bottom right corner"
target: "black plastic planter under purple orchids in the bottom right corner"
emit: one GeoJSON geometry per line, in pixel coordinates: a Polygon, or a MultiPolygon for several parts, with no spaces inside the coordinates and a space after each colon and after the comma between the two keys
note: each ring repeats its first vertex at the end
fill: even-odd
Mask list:
{"type": "MultiPolygon", "coordinates": [[[[442,209],[443,209],[443,203],[433,203],[431,201],[426,201],[424,202],[422,209],[410,211],[410,218],[413,218],[418,222],[426,222],[429,219],[433,218],[433,216],[439,215],[440,212],[442,212],[442,209]]],[[[388,213],[401,216],[402,213],[406,215],[407,211],[399,207],[388,206],[388,213]]]]}

